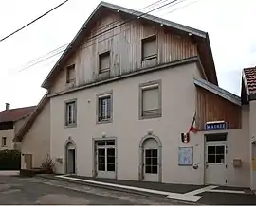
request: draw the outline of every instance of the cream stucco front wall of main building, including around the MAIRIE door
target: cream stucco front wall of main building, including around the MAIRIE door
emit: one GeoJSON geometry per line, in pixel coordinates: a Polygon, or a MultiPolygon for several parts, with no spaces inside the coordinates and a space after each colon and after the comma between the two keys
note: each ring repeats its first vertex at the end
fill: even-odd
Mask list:
{"type": "Polygon", "coordinates": [[[193,77],[198,77],[195,63],[174,68],[129,77],[119,81],[102,84],[70,94],[50,98],[50,154],[53,160],[63,159],[56,163],[56,172],[65,171],[65,144],[72,140],[76,145],[76,173],[91,177],[95,173],[93,139],[115,137],[117,142],[116,177],[119,180],[139,180],[140,150],[139,143],[152,129],[161,142],[160,181],[167,183],[205,184],[205,134],[222,132],[227,134],[227,184],[230,186],[249,187],[249,140],[247,134],[248,110],[243,109],[242,129],[221,131],[199,131],[191,135],[191,141],[184,144],[180,140],[182,132],[187,132],[192,123],[196,108],[196,90],[193,77]],[[181,80],[183,79],[183,80],[181,80]],[[153,119],[139,120],[138,92],[139,84],[161,80],[162,116],[153,119]],[[113,121],[107,124],[96,124],[96,96],[112,91],[113,121]],[[64,102],[77,100],[77,126],[64,126],[64,102]],[[178,165],[179,146],[193,146],[192,166],[178,165]],[[243,165],[234,168],[232,160],[239,158],[243,165]],[[241,176],[243,178],[241,178],[241,176]]]}

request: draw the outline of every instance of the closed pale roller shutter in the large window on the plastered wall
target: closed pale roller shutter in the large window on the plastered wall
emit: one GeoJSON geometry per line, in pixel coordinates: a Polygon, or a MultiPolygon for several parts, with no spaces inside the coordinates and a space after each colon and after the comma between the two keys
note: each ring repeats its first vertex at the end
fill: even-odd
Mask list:
{"type": "Polygon", "coordinates": [[[142,90],[143,111],[159,109],[159,90],[158,88],[142,90]]]}

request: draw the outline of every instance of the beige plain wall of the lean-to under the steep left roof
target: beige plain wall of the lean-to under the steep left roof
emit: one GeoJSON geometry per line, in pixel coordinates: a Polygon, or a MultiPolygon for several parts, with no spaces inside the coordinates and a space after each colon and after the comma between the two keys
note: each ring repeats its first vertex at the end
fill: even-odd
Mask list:
{"type": "MultiPolygon", "coordinates": [[[[32,127],[25,134],[21,144],[22,154],[32,154],[32,166],[40,167],[50,152],[50,103],[46,103],[43,111],[36,118],[32,127]]],[[[26,168],[24,157],[21,167],[26,168]]]]}

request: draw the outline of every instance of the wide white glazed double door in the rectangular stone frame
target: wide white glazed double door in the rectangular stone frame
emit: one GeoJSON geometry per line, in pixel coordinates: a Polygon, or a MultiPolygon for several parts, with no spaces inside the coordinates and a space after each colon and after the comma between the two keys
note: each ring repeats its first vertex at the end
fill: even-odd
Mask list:
{"type": "Polygon", "coordinates": [[[116,147],[115,141],[97,143],[96,167],[99,178],[116,178],[116,147]]]}

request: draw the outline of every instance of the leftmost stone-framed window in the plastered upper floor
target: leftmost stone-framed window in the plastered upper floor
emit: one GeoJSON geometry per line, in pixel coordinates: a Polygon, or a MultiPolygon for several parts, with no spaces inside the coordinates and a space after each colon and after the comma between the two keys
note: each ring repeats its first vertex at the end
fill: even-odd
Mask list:
{"type": "Polygon", "coordinates": [[[76,100],[65,103],[65,125],[75,126],[77,123],[77,102],[76,100]]]}

